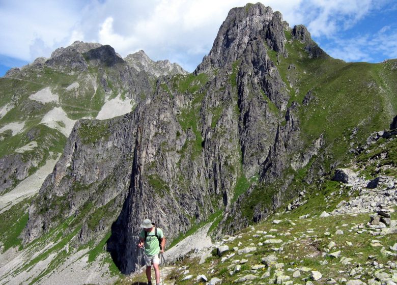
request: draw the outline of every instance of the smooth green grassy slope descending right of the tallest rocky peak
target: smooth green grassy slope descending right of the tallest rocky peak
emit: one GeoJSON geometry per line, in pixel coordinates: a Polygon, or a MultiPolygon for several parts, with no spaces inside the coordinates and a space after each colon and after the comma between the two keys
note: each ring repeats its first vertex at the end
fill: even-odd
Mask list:
{"type": "MultiPolygon", "coordinates": [[[[279,56],[277,69],[291,95],[289,104],[300,104],[297,115],[301,139],[309,147],[324,135],[325,148],[320,151],[319,162],[326,167],[325,172],[333,163],[349,163],[353,158],[349,149],[363,144],[372,132],[387,129],[397,113],[397,94],[392,92],[397,78],[397,70],[392,70],[395,61],[368,64],[345,63],[328,56],[310,59],[299,41],[290,41],[286,46],[288,58],[279,56]],[[304,106],[302,101],[309,90],[315,98],[304,106]]],[[[268,54],[277,62],[276,52],[269,50],[268,54]]],[[[288,176],[293,175],[294,180],[284,200],[306,188],[302,180],[316,159],[297,171],[288,168],[283,178],[272,184],[257,185],[241,206],[243,216],[251,220],[256,205],[268,207],[288,176]]]]}

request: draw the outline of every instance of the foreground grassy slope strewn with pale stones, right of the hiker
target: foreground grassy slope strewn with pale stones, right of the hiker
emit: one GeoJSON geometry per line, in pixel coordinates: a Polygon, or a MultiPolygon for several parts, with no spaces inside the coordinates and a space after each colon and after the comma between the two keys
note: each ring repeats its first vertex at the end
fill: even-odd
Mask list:
{"type": "MultiPolygon", "coordinates": [[[[329,177],[328,177],[329,178],[329,177]]],[[[198,264],[200,258],[186,258],[183,261],[179,261],[175,264],[174,269],[166,278],[165,282],[176,282],[177,284],[199,284],[200,282],[195,280],[195,277],[199,274],[204,274],[208,280],[212,277],[218,277],[222,279],[222,283],[231,284],[242,276],[247,274],[256,274],[261,276],[269,267],[257,271],[251,269],[252,266],[261,264],[261,260],[266,255],[273,254],[278,258],[277,263],[283,263],[283,274],[289,275],[290,280],[294,280],[294,283],[301,283],[301,278],[309,277],[310,272],[302,272],[301,277],[294,279],[292,273],[299,267],[308,267],[310,270],[317,270],[323,274],[323,278],[320,279],[319,283],[325,283],[327,278],[339,278],[352,279],[353,277],[348,276],[348,273],[355,269],[357,270],[358,264],[364,267],[371,266],[367,264],[368,257],[370,255],[376,256],[376,261],[380,264],[386,264],[388,261],[397,261],[395,257],[391,257],[381,253],[382,247],[372,246],[372,240],[380,240],[380,243],[385,246],[386,249],[392,246],[396,239],[397,234],[388,235],[385,237],[374,237],[370,235],[370,232],[360,231],[357,227],[359,224],[366,224],[370,220],[369,214],[355,214],[355,215],[340,215],[340,216],[329,216],[326,218],[320,218],[319,215],[322,211],[330,212],[335,209],[336,205],[342,200],[348,200],[349,197],[356,195],[351,192],[349,187],[343,186],[338,182],[333,182],[328,179],[325,181],[314,183],[307,189],[305,200],[308,202],[303,206],[289,212],[285,212],[284,207],[278,210],[275,214],[271,215],[265,221],[262,221],[254,226],[247,227],[241,232],[237,233],[237,239],[228,241],[225,245],[228,245],[231,251],[229,253],[235,253],[234,257],[231,257],[225,262],[221,262],[221,259],[217,257],[216,251],[213,251],[212,257],[208,258],[202,265],[198,264]],[[342,187],[341,187],[342,186],[342,187]],[[300,219],[300,216],[308,215],[307,219],[300,219]],[[279,224],[274,224],[274,219],[281,220],[279,224]],[[344,231],[344,235],[335,235],[335,231],[341,229],[344,231]],[[264,233],[266,232],[266,234],[264,233]],[[326,235],[329,232],[330,235],[326,235]],[[286,242],[283,245],[282,252],[274,251],[273,248],[278,248],[278,244],[264,244],[259,245],[259,242],[264,242],[270,237],[265,238],[264,235],[273,235],[274,239],[281,239],[286,242]],[[257,235],[257,236],[254,236],[257,235]],[[330,241],[336,243],[336,246],[331,250],[327,249],[330,241]],[[239,245],[239,243],[242,243],[239,245]],[[351,242],[349,245],[347,242],[351,242]],[[238,255],[232,248],[238,247],[239,249],[256,246],[257,250],[251,254],[238,255]],[[344,265],[340,259],[333,259],[331,257],[323,257],[322,252],[335,252],[341,250],[341,257],[351,258],[351,264],[344,265]],[[241,271],[233,275],[230,274],[231,270],[234,270],[236,264],[233,261],[239,261],[246,259],[247,262],[241,265],[241,271]],[[322,262],[326,260],[328,264],[323,265],[322,262]],[[192,274],[193,278],[183,281],[182,279],[186,276],[183,274],[185,267],[189,270],[188,274],[192,274]]],[[[397,208],[396,208],[397,209],[397,208]]],[[[392,219],[397,219],[397,214],[392,213],[392,219]]],[[[275,266],[275,264],[273,264],[275,266]]],[[[271,268],[271,276],[275,273],[275,268],[271,268]]],[[[358,273],[357,273],[358,274],[358,273]]],[[[369,274],[363,274],[363,278],[372,278],[369,274]]],[[[269,277],[255,281],[254,283],[267,284],[269,277]]],[[[142,280],[142,279],[141,279],[142,280]]],[[[361,278],[362,280],[362,278],[361,278]]],[[[137,277],[122,278],[117,284],[127,284],[131,281],[137,281],[137,277]]],[[[237,282],[244,283],[244,282],[237,282]]]]}

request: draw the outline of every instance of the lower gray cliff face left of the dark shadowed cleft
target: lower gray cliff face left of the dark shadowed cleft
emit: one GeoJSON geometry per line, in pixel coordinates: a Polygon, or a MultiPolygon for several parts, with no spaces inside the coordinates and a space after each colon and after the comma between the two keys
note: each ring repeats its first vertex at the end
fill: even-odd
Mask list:
{"type": "Polygon", "coordinates": [[[128,192],[134,123],[133,115],[76,123],[64,154],[29,209],[29,222],[23,234],[25,243],[71,216],[74,220],[70,231],[81,226],[80,244],[104,234],[128,192]]]}

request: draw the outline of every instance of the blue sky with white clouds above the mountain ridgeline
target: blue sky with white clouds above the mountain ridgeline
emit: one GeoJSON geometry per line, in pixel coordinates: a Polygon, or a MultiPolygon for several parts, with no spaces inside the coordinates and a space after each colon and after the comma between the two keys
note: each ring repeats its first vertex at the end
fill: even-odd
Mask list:
{"type": "MultiPolygon", "coordinates": [[[[397,58],[395,0],[260,1],[293,27],[307,26],[328,54],[347,62],[397,58]]],[[[188,71],[202,61],[223,20],[247,0],[0,0],[0,76],[75,40],[143,49],[188,71]]]]}

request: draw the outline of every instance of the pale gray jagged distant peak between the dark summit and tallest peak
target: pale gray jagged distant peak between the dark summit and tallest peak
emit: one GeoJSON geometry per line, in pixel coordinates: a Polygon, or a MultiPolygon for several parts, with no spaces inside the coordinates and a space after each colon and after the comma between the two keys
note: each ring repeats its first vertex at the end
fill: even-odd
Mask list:
{"type": "Polygon", "coordinates": [[[137,71],[146,71],[148,74],[151,74],[155,77],[164,75],[188,74],[188,72],[177,63],[172,64],[168,60],[157,62],[152,61],[143,50],[139,50],[133,54],[128,54],[124,60],[128,63],[128,65],[137,71]]]}

